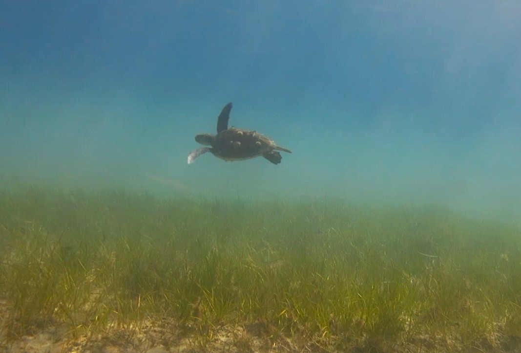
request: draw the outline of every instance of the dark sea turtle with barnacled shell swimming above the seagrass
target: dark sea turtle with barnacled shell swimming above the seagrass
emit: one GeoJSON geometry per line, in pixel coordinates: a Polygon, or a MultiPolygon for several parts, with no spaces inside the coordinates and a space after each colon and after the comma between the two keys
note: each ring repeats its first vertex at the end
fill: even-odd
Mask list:
{"type": "Polygon", "coordinates": [[[202,133],[195,136],[195,141],[211,147],[198,148],[190,152],[188,164],[192,164],[197,157],[206,152],[212,152],[214,156],[225,161],[240,161],[263,156],[274,164],[279,164],[282,160],[278,151],[291,153],[262,133],[234,127],[228,129],[231,106],[231,102],[225,105],[217,118],[217,135],[202,133]]]}

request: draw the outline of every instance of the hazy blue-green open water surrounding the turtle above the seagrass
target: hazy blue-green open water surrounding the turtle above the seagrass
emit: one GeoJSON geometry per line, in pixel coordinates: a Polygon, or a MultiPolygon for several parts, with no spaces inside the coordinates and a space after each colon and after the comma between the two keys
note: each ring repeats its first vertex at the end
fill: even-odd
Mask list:
{"type": "Polygon", "coordinates": [[[0,2],[0,176],[521,218],[521,3],[0,2]],[[230,124],[291,149],[224,162],[230,124]]]}

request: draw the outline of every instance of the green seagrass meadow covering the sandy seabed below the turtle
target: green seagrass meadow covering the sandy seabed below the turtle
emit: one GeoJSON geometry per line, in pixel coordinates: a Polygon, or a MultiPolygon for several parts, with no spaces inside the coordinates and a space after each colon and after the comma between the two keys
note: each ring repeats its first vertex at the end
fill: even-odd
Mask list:
{"type": "Polygon", "coordinates": [[[328,199],[0,200],[6,351],[27,337],[47,351],[521,349],[515,226],[328,199]]]}

